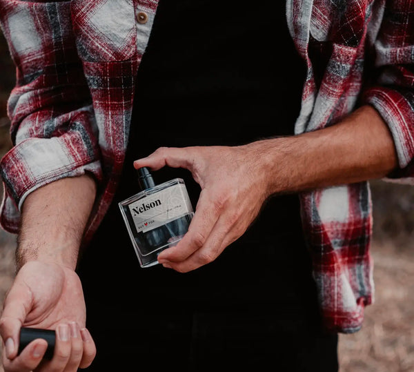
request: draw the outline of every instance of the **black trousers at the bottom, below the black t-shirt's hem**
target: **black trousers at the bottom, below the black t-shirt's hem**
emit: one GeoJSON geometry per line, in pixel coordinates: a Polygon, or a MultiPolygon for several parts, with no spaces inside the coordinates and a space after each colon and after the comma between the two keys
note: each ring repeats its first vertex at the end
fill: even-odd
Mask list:
{"type": "Polygon", "coordinates": [[[110,310],[106,322],[90,322],[98,352],[85,371],[338,371],[337,335],[304,322],[297,309],[286,320],[275,316],[286,308],[110,310]]]}

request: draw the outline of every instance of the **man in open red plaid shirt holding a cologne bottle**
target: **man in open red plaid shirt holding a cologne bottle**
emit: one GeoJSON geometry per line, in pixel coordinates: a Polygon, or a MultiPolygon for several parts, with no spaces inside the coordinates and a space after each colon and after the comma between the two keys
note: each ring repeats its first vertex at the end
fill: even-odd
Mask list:
{"type": "MultiPolygon", "coordinates": [[[[161,12],[167,3],[157,10],[156,1],[0,2],[17,64],[9,105],[15,146],[1,162],[2,225],[19,233],[19,271],[1,317],[6,371],[93,368],[96,351],[98,370],[135,360],[144,369],[201,371],[218,368],[219,361],[226,369],[252,369],[273,361],[286,371],[335,371],[336,333],[360,328],[364,306],[373,300],[366,181],[413,175],[413,5],[286,1],[296,59],[281,36],[282,23],[269,18],[284,15],[275,9],[280,5],[257,6],[252,17],[239,1],[220,4],[219,13],[201,3],[184,1],[172,16],[161,12]],[[159,29],[164,25],[170,43],[152,30],[162,17],[159,29]],[[209,49],[221,35],[221,49],[209,49]],[[228,62],[225,50],[237,42],[248,57],[241,53],[228,62]],[[175,53],[183,44],[185,50],[175,53]],[[207,97],[208,106],[218,107],[221,92],[213,75],[200,73],[197,84],[186,79],[187,52],[190,61],[202,56],[199,63],[224,53],[211,71],[226,78],[220,84],[234,81],[223,98],[226,107],[200,106],[190,117],[191,107],[180,106],[195,96],[195,105],[207,97]],[[298,60],[303,75],[296,73],[298,60]],[[288,79],[279,84],[282,77],[288,79]],[[248,99],[240,104],[244,89],[248,99]],[[237,109],[228,112],[233,91],[237,109]],[[278,101],[298,93],[300,110],[288,106],[284,112],[278,101]],[[250,101],[255,106],[245,112],[250,101]],[[166,108],[172,115],[159,117],[166,108]],[[266,115],[251,129],[237,126],[244,115],[253,121],[258,108],[266,115]],[[279,118],[273,111],[283,117],[275,128],[266,123],[279,118]],[[213,119],[200,125],[212,112],[213,119]],[[230,119],[221,121],[224,114],[230,119]],[[185,130],[172,135],[181,129],[180,115],[185,130]],[[146,156],[150,149],[155,151],[146,156]],[[122,250],[116,239],[108,240],[125,234],[114,209],[133,190],[132,159],[135,168],[185,168],[192,176],[186,182],[197,182],[190,186],[197,206],[189,231],[159,254],[162,266],[154,270],[135,269],[137,262],[121,253],[124,240],[122,250]],[[300,199],[302,225],[293,195],[300,199]],[[105,293],[109,303],[102,300],[105,293]],[[41,362],[43,340],[17,356],[21,326],[56,329],[50,362],[41,362]]],[[[212,63],[191,73],[210,71],[212,63]]]]}

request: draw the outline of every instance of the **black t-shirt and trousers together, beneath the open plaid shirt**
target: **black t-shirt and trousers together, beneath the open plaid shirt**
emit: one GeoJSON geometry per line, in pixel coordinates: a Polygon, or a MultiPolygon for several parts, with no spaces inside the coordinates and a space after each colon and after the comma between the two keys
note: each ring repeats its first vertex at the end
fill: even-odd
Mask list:
{"type": "MultiPolygon", "coordinates": [[[[132,161],[159,146],[293,135],[305,68],[284,4],[159,2],[137,76],[124,173],[79,263],[99,350],[90,371],[112,362],[157,371],[337,371],[337,336],[321,329],[297,195],[270,199],[215,262],[185,274],[140,268],[117,206],[139,190],[132,161]]],[[[154,177],[182,177],[197,204],[200,188],[188,171],[164,168],[154,177]]]]}

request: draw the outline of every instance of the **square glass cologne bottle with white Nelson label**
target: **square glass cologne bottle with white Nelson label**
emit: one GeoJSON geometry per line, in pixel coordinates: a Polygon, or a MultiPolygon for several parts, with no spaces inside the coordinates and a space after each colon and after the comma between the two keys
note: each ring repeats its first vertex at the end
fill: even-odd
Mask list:
{"type": "Polygon", "coordinates": [[[158,264],[157,256],[175,246],[193,218],[193,206],[184,180],[155,185],[148,168],[139,168],[141,192],[119,203],[122,217],[141,267],[158,264]]]}

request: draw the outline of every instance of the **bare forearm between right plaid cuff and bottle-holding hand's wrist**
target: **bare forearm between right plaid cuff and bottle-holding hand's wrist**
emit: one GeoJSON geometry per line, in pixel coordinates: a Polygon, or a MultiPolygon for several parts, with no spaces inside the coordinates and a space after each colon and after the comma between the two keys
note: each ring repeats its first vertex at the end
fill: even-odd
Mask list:
{"type": "Polygon", "coordinates": [[[268,194],[362,182],[385,177],[397,167],[391,133],[371,106],[335,126],[268,139],[261,147],[268,194]]]}

